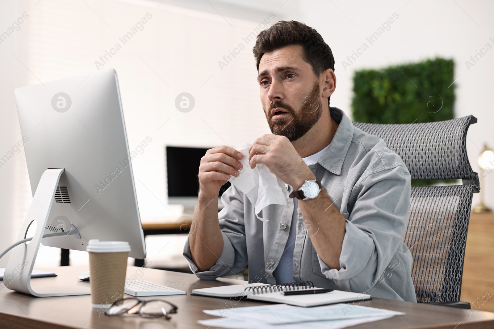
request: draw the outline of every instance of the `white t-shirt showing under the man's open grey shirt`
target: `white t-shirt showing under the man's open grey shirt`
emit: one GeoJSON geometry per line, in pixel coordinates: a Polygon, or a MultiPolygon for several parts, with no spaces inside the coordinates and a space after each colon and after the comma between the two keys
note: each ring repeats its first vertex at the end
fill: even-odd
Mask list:
{"type": "MultiPolygon", "coordinates": [[[[320,150],[319,152],[302,158],[306,165],[316,163],[326,152],[329,145],[320,150]]],[[[283,252],[278,266],[273,272],[273,276],[276,279],[276,284],[293,282],[293,251],[295,249],[295,236],[297,234],[297,213],[298,213],[298,201],[297,198],[293,198],[293,214],[291,215],[290,231],[288,233],[287,244],[285,245],[285,251],[283,252]]]]}

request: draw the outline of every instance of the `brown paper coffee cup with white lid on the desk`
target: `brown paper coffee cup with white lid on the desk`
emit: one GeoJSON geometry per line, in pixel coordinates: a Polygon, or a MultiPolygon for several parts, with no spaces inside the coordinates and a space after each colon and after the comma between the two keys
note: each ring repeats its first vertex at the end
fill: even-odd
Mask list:
{"type": "Polygon", "coordinates": [[[128,242],[89,240],[89,283],[94,308],[108,308],[124,297],[128,242]]]}

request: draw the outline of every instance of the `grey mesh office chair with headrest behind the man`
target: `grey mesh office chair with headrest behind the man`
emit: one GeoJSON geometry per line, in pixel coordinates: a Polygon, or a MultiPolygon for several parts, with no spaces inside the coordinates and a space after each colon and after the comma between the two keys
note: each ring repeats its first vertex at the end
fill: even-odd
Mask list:
{"type": "Polygon", "coordinates": [[[404,240],[413,256],[419,303],[470,309],[460,292],[472,193],[480,189],[465,143],[468,127],[476,122],[473,115],[412,124],[354,122],[382,138],[403,159],[412,180],[462,180],[462,185],[412,186],[404,240]]]}

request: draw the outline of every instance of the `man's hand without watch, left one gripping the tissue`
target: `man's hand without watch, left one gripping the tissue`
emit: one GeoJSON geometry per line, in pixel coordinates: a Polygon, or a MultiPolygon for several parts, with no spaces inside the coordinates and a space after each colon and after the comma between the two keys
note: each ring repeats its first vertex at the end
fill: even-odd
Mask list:
{"type": "Polygon", "coordinates": [[[199,166],[199,192],[206,198],[218,196],[221,186],[231,176],[238,176],[242,170],[244,155],[228,146],[218,146],[206,151],[199,166]]]}

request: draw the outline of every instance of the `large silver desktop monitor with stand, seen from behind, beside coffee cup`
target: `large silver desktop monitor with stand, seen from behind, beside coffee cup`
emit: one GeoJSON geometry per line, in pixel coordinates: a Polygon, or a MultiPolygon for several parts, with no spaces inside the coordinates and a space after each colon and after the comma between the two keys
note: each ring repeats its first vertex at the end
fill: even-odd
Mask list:
{"type": "Polygon", "coordinates": [[[33,192],[18,241],[30,225],[37,229],[29,244],[12,250],[5,276],[14,280],[5,284],[34,295],[82,294],[74,287],[31,289],[40,243],[85,251],[90,239],[127,241],[130,257],[146,256],[117,73],[111,69],[45,82],[16,89],[14,95],[33,192]],[[71,227],[78,234],[41,239],[71,227]]]}

